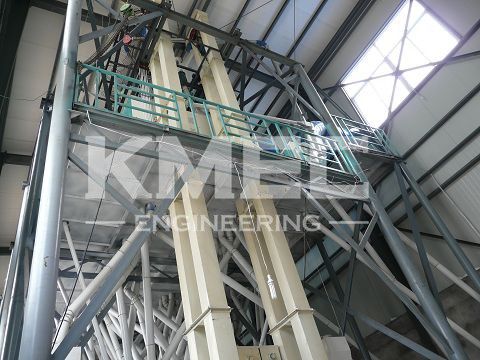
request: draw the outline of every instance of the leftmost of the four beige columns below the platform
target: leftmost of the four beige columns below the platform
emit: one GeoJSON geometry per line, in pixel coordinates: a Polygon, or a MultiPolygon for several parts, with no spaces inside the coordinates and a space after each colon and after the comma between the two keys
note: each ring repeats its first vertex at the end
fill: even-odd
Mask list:
{"type": "MultiPolygon", "coordinates": [[[[177,259],[178,280],[182,294],[183,313],[185,325],[190,329],[196,319],[202,313],[200,307],[200,295],[198,293],[195,269],[193,267],[192,249],[190,238],[186,229],[185,210],[181,200],[175,200],[170,205],[170,218],[172,220],[173,242],[175,245],[175,257],[177,259]]],[[[202,324],[187,333],[190,359],[208,359],[207,338],[202,324]]]]}

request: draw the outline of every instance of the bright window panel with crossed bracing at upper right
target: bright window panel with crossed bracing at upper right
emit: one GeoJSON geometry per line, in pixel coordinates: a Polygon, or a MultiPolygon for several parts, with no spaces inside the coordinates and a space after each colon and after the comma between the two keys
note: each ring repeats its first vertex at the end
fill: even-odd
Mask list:
{"type": "Polygon", "coordinates": [[[418,1],[405,1],[343,79],[343,89],[364,119],[378,127],[458,40],[418,1]]]}

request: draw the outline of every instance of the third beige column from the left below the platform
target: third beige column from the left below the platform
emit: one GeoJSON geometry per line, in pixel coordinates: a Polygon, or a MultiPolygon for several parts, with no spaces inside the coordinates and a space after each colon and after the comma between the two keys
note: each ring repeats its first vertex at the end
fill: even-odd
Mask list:
{"type": "MultiPolygon", "coordinates": [[[[238,200],[236,205],[239,215],[249,216],[246,201],[238,200]]],[[[250,206],[252,207],[252,205],[250,206]]],[[[251,210],[253,212],[253,209],[251,210]]],[[[255,272],[255,277],[257,279],[258,291],[262,298],[267,321],[270,329],[274,329],[280,321],[287,316],[287,310],[285,309],[282,293],[278,287],[277,299],[273,300],[270,296],[270,290],[267,285],[267,274],[272,276],[275,284],[278,284],[278,280],[273,272],[273,265],[268,249],[265,245],[265,239],[261,232],[254,231],[253,226],[243,228],[242,230],[250,260],[252,262],[252,267],[255,272]]],[[[279,328],[277,331],[271,332],[270,334],[273,338],[274,344],[279,347],[283,360],[301,359],[295,335],[293,334],[293,329],[290,324],[287,323],[285,326],[279,328]]]]}

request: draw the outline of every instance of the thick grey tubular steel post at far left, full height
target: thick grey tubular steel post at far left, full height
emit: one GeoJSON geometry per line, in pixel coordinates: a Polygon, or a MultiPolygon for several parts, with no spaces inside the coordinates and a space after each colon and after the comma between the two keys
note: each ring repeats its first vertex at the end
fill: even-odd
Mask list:
{"type": "Polygon", "coordinates": [[[74,95],[81,0],[68,2],[58,68],[52,121],[45,159],[44,177],[33,250],[25,323],[20,346],[20,359],[47,359],[52,343],[58,273],[58,238],[62,189],[67,165],[70,135],[70,108],[74,95]]]}

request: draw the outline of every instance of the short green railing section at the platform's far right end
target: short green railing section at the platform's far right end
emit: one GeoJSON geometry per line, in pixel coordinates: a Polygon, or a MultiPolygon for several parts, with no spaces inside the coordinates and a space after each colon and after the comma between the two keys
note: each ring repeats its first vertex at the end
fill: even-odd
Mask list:
{"type": "Polygon", "coordinates": [[[396,156],[396,152],[382,129],[337,115],[332,117],[343,139],[351,148],[396,156]]]}

